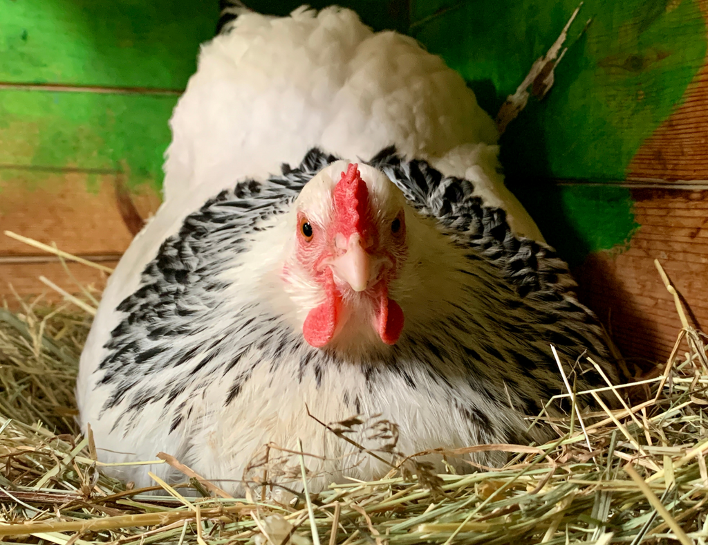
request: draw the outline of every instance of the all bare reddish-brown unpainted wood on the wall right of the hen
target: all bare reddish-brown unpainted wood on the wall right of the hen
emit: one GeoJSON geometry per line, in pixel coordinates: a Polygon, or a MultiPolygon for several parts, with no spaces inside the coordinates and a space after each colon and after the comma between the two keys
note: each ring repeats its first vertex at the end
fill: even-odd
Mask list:
{"type": "MultiPolygon", "coordinates": [[[[708,0],[697,5],[708,22],[708,0]]],[[[624,355],[646,367],[666,360],[680,330],[654,259],[680,292],[692,325],[708,331],[708,189],[670,188],[708,180],[708,59],[673,113],[636,152],[627,178],[663,188],[632,190],[632,212],[641,226],[629,245],[589,256],[576,276],[583,299],[624,355]]]]}

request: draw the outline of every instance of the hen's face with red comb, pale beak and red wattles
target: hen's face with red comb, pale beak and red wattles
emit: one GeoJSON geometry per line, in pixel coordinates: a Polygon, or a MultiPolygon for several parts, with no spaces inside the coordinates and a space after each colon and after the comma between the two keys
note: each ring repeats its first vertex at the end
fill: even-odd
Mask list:
{"type": "Polygon", "coordinates": [[[294,255],[284,278],[316,292],[302,326],[305,340],[323,347],[363,326],[396,343],[404,314],[389,297],[389,283],[408,254],[398,188],[375,168],[338,161],[305,185],[295,214],[294,255]]]}

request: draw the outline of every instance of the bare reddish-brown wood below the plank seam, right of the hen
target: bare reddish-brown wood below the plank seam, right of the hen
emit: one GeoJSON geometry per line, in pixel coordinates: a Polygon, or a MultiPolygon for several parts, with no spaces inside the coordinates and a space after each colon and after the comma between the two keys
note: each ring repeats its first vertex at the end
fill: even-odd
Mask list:
{"type": "Polygon", "coordinates": [[[635,189],[641,225],[624,251],[591,255],[575,271],[581,299],[605,323],[622,353],[645,368],[668,357],[681,328],[658,259],[687,315],[708,331],[708,190],[635,189]]]}

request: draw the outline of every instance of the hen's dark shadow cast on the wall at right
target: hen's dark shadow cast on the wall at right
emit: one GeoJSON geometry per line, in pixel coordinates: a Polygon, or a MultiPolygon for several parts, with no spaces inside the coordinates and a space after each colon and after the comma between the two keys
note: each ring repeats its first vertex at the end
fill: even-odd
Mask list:
{"type": "MultiPolygon", "coordinates": [[[[489,98],[489,88],[475,87],[481,89],[482,101],[499,102],[498,97],[489,98]]],[[[629,369],[653,368],[665,359],[666,346],[657,334],[656,323],[639,307],[636,293],[624,286],[625,275],[615,263],[615,253],[622,251],[639,229],[630,191],[610,182],[558,183],[550,174],[539,176],[537,173],[550,171],[542,117],[524,114],[513,122],[519,125],[501,137],[501,163],[508,188],[549,245],[569,263],[578,282],[578,299],[598,316],[629,369]],[[532,142],[521,141],[518,134],[535,137],[532,142]],[[529,154],[533,156],[532,166],[528,164],[529,154]]]]}

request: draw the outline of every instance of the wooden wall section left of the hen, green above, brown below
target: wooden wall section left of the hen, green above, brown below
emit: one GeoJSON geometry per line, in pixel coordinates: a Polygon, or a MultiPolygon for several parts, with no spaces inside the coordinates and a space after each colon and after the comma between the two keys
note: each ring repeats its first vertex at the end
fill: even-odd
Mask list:
{"type": "Polygon", "coordinates": [[[42,291],[40,274],[77,289],[6,229],[115,265],[135,213],[159,205],[167,120],[217,13],[217,2],[0,0],[0,298],[42,291]]]}

